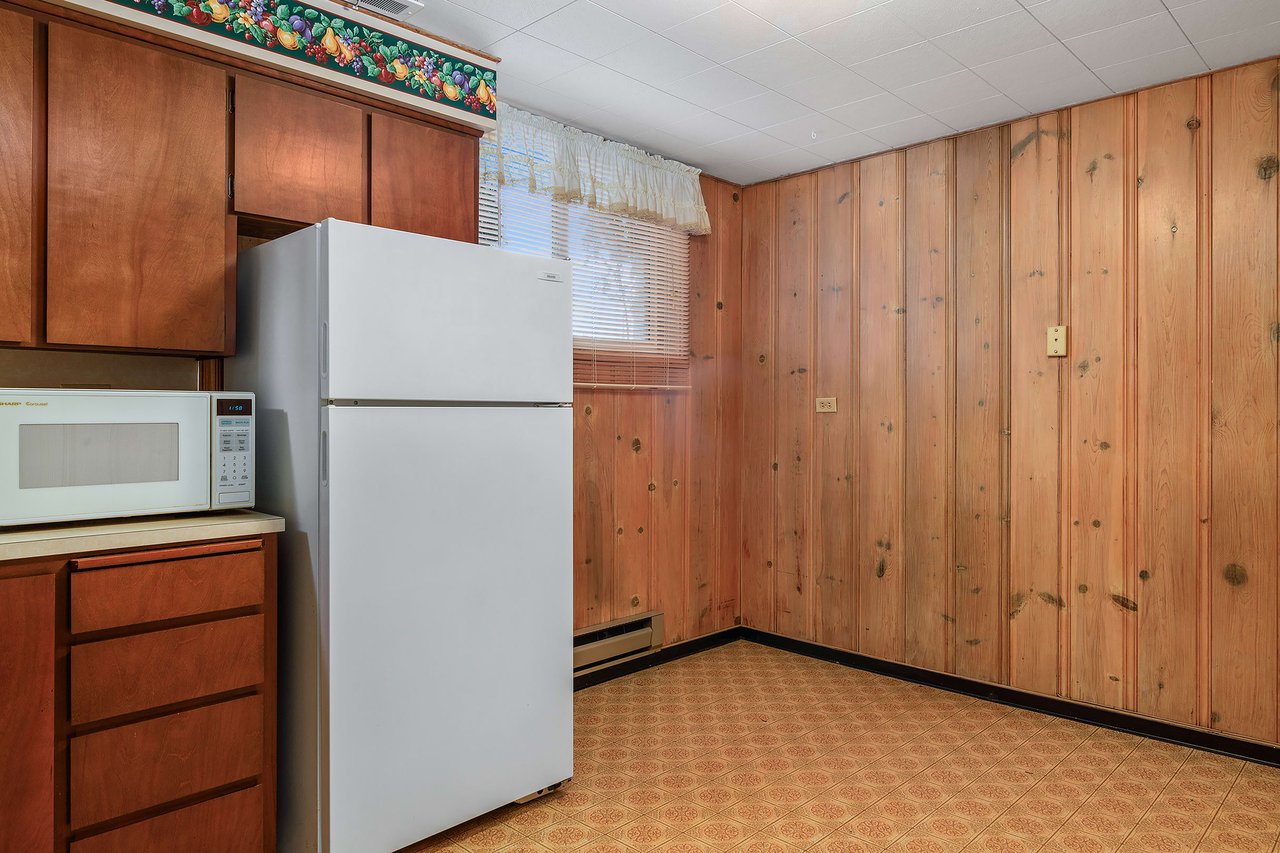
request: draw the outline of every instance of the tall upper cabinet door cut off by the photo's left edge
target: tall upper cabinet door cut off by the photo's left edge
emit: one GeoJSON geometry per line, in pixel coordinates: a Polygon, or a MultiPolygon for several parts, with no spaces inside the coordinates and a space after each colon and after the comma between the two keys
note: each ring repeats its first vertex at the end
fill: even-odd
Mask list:
{"type": "Polygon", "coordinates": [[[31,339],[36,24],[0,10],[0,341],[31,339]]]}

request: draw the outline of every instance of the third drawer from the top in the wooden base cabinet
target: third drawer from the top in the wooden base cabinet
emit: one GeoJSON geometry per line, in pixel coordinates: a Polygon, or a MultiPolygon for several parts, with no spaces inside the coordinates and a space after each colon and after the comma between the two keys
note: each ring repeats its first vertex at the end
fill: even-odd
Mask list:
{"type": "Polygon", "coordinates": [[[250,779],[262,770],[262,697],[72,738],[72,829],[250,779]]]}

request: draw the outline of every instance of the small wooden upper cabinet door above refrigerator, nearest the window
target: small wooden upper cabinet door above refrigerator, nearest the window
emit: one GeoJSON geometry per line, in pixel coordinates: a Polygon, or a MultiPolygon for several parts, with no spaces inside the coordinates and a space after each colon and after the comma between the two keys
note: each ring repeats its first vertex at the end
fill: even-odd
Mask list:
{"type": "Polygon", "coordinates": [[[476,242],[479,140],[375,113],[370,222],[476,242]]]}

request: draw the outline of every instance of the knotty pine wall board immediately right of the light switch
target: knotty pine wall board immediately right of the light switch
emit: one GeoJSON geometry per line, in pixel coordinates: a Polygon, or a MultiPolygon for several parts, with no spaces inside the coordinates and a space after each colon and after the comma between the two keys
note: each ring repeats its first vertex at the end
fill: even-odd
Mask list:
{"type": "Polygon", "coordinates": [[[1125,553],[1128,97],[1071,110],[1068,695],[1125,707],[1134,612],[1125,553]]]}

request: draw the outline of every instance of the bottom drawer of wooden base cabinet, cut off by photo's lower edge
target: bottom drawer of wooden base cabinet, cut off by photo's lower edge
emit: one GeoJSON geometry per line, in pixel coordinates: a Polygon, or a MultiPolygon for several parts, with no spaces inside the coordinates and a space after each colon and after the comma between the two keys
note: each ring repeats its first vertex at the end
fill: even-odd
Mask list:
{"type": "Polygon", "coordinates": [[[262,789],[257,785],[72,844],[72,853],[260,853],[261,849],[262,789]]]}

